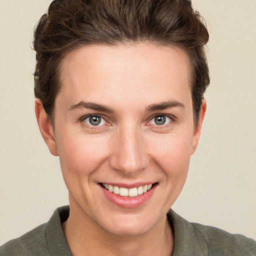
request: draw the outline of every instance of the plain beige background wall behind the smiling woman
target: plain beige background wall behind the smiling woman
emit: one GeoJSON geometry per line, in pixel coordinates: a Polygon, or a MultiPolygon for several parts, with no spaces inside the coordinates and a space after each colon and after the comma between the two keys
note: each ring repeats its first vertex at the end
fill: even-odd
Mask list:
{"type": "MultiPolygon", "coordinates": [[[[67,204],[58,158],[33,113],[32,29],[50,0],[0,0],[0,244],[67,204]]],[[[173,209],[256,239],[256,0],[193,0],[210,31],[211,85],[173,209]]]]}

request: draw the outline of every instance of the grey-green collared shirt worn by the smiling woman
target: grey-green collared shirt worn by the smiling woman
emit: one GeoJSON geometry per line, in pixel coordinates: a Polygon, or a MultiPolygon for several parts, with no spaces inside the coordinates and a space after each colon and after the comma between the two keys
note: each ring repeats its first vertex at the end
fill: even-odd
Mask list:
{"type": "MultiPolygon", "coordinates": [[[[61,222],[69,207],[57,208],[49,221],[0,247],[1,256],[71,256],[61,222]]],[[[256,241],[240,234],[190,223],[169,210],[167,217],[174,232],[172,256],[256,256],[256,241]]]]}

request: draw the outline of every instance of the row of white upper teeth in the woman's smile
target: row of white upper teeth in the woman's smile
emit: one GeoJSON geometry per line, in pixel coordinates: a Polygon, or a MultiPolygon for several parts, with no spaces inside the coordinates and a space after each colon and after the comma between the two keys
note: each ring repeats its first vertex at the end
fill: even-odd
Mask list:
{"type": "Polygon", "coordinates": [[[152,187],[152,184],[132,188],[112,186],[104,183],[102,183],[102,186],[114,194],[119,194],[121,196],[137,196],[138,194],[142,194],[148,191],[152,187]]]}

